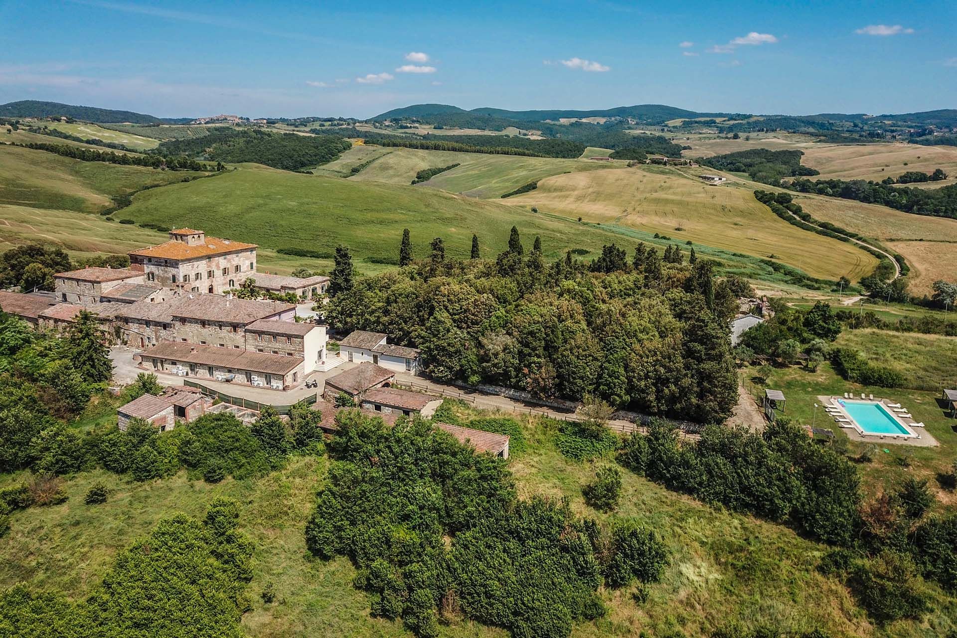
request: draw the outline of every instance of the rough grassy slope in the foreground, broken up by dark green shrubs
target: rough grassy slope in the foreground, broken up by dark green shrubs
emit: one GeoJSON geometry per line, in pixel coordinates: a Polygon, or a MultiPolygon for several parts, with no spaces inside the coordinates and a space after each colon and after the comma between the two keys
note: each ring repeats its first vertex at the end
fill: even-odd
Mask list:
{"type": "MultiPolygon", "coordinates": [[[[672,560],[649,598],[638,604],[629,590],[602,591],[604,618],[573,628],[574,638],[598,636],[707,636],[738,623],[788,630],[819,627],[839,636],[929,638],[954,627],[953,599],[932,588],[934,609],[924,626],[901,622],[872,626],[847,589],[815,569],[827,547],[801,539],[789,528],[730,514],[623,472],[621,506],[614,515],[590,509],[581,495],[595,466],[569,461],[554,447],[554,430],[525,422],[528,451],[508,461],[522,497],[568,497],[582,516],[634,517],[662,535],[672,560]]],[[[116,474],[80,473],[68,480],[66,503],[14,513],[11,532],[0,539],[0,587],[24,582],[81,598],[100,581],[118,551],[174,512],[199,516],[211,498],[233,497],[242,507],[240,529],[256,543],[253,608],[243,617],[249,635],[343,635],[407,637],[400,623],[369,616],[366,596],[352,586],[345,559],[323,562],[305,549],[303,526],[323,484],[323,458],[294,457],[286,467],[256,479],[227,478],[211,485],[185,473],[136,483],[116,474]],[[87,506],[82,495],[104,481],[105,504],[87,506]],[[259,598],[265,583],[276,601],[259,598]]],[[[0,486],[14,481],[0,475],[0,486]]],[[[501,629],[459,622],[441,627],[444,638],[504,638],[501,629]]]]}

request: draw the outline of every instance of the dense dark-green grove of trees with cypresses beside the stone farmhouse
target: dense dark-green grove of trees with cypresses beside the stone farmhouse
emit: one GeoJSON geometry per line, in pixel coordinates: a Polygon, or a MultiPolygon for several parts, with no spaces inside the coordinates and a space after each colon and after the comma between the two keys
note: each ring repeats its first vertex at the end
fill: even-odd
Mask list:
{"type": "MultiPolygon", "coordinates": [[[[718,423],[737,401],[727,320],[735,279],[641,245],[592,264],[525,254],[518,231],[496,262],[445,259],[337,288],[326,318],[422,349],[441,381],[506,385],[541,397],[597,395],[614,407],[718,423]]],[[[349,265],[345,270],[351,268],[349,265]]],[[[334,281],[336,276],[333,277],[334,281]]],[[[746,288],[746,284],[744,286],[746,288]]]]}

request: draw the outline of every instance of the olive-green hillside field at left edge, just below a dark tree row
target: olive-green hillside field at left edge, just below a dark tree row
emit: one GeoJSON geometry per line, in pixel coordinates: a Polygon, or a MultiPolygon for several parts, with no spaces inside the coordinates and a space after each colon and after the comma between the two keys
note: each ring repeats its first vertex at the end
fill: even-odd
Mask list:
{"type": "MultiPolygon", "coordinates": [[[[50,142],[55,138],[34,136],[50,142]]],[[[100,150],[102,150],[100,148],[100,150]]],[[[0,146],[0,204],[95,212],[110,197],[204,173],[81,162],[31,148],[0,146]]]]}

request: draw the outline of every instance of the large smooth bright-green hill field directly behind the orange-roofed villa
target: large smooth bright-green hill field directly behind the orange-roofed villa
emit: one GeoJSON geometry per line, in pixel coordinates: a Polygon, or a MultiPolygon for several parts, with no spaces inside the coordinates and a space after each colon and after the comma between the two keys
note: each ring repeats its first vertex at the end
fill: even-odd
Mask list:
{"type": "MultiPolygon", "coordinates": [[[[381,162],[382,160],[380,160],[381,162]]],[[[545,255],[572,248],[600,250],[614,235],[560,217],[533,214],[493,202],[451,195],[434,188],[360,182],[243,167],[189,184],[146,190],[122,218],[164,226],[196,224],[206,230],[267,248],[331,252],[345,244],[360,258],[395,257],[404,228],[412,229],[415,254],[425,257],[433,237],[448,253],[467,256],[472,233],[483,255],[505,248],[514,224],[526,243],[541,235],[545,255]]]]}

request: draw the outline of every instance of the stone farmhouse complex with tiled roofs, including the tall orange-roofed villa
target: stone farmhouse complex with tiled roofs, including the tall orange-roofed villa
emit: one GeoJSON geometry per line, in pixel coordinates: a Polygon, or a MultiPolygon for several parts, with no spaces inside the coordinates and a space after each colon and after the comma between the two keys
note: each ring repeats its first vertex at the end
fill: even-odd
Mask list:
{"type": "Polygon", "coordinates": [[[177,229],[129,257],[128,268],[57,273],[54,294],[0,292],[0,309],[50,329],[89,311],[107,340],[141,351],[141,367],[200,380],[285,389],[346,361],[418,369],[418,350],[390,345],[384,334],[357,332],[342,353],[330,353],[325,326],[297,322],[295,304],[234,297],[248,278],[265,293],[302,299],[328,285],[321,275],[257,275],[255,244],[177,229]]]}

